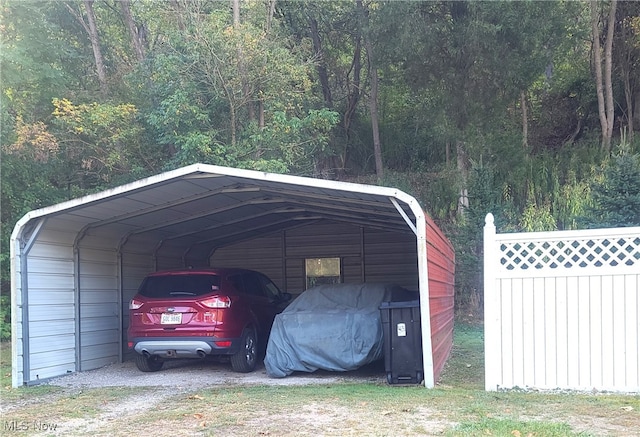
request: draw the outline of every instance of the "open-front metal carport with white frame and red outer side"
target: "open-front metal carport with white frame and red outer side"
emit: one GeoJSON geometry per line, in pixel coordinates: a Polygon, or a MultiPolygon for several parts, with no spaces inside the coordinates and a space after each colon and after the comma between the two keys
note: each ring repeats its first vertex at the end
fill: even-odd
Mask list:
{"type": "MultiPolygon", "coordinates": [[[[339,226],[360,230],[351,246],[360,253],[359,280],[378,279],[378,267],[366,273],[368,260],[391,263],[389,248],[401,249],[398,267],[407,273],[400,285],[429,302],[421,318],[430,321],[422,323],[422,338],[425,385],[433,387],[452,344],[454,255],[416,199],[387,187],[205,164],[18,221],[11,235],[12,384],[122,361],[128,300],[150,271],[208,266],[217,251],[237,244],[248,242],[250,251],[265,236],[306,229],[296,237],[304,241],[315,229],[339,226]]],[[[285,252],[265,256],[278,261],[285,252]]],[[[290,273],[285,262],[278,265],[270,276],[287,290],[290,273]]]]}

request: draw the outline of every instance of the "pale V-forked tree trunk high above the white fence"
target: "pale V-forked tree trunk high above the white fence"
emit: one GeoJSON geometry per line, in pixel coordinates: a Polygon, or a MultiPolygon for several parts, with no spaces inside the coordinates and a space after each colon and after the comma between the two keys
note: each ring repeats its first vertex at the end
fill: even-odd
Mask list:
{"type": "Polygon", "coordinates": [[[602,148],[611,150],[613,136],[613,87],[611,83],[613,28],[615,24],[617,0],[611,1],[609,23],[604,49],[604,72],[602,71],[602,48],[600,46],[600,29],[598,26],[598,2],[591,0],[591,33],[593,38],[593,63],[596,74],[596,92],[598,97],[598,115],[602,129],[602,148]]]}

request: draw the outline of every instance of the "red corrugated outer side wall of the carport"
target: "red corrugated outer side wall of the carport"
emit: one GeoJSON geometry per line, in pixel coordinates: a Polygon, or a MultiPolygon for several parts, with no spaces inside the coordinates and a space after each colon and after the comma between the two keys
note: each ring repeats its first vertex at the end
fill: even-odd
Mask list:
{"type": "Polygon", "coordinates": [[[426,226],[431,347],[434,380],[437,381],[453,346],[455,252],[428,216],[426,226]]]}

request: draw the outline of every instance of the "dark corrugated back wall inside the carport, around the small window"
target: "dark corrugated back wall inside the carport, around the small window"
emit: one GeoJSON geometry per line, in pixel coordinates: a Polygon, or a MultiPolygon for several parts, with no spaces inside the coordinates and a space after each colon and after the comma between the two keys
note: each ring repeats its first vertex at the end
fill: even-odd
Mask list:
{"type": "Polygon", "coordinates": [[[217,250],[210,262],[216,267],[241,266],[260,271],[283,290],[299,294],[305,287],[304,260],[323,257],[342,259],[344,282],[394,283],[414,290],[418,287],[416,244],[412,233],[363,231],[360,226],[343,223],[314,223],[241,242],[217,250]],[[282,266],[283,254],[286,268],[282,266]]]}

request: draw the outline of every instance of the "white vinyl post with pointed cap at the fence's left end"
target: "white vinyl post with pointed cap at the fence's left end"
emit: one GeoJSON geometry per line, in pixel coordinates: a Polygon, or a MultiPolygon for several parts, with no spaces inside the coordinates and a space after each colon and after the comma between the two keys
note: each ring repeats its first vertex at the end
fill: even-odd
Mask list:
{"type": "Polygon", "coordinates": [[[493,375],[500,373],[500,300],[496,292],[495,274],[487,266],[495,266],[496,227],[493,214],[484,219],[484,381],[486,391],[496,391],[498,384],[493,375]]]}

